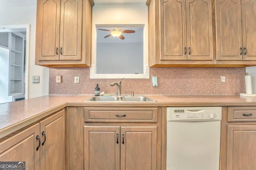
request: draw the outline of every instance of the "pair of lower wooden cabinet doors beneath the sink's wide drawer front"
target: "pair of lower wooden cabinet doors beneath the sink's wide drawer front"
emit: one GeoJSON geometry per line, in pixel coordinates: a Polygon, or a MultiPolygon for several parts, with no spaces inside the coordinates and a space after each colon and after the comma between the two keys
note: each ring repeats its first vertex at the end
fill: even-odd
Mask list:
{"type": "Polygon", "coordinates": [[[84,126],[84,169],[156,170],[157,127],[84,126]]]}

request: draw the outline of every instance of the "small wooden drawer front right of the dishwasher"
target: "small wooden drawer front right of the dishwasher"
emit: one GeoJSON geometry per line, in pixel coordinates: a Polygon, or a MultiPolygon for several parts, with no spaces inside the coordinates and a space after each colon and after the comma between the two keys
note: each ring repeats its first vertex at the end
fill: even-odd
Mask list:
{"type": "Polygon", "coordinates": [[[228,121],[256,121],[256,107],[228,107],[228,121]]]}

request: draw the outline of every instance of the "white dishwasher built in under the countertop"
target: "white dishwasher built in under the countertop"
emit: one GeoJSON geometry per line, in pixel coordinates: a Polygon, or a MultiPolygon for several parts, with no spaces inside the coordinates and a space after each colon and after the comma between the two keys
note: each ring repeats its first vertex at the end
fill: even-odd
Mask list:
{"type": "Polygon", "coordinates": [[[221,107],[167,107],[166,170],[219,170],[221,107]]]}

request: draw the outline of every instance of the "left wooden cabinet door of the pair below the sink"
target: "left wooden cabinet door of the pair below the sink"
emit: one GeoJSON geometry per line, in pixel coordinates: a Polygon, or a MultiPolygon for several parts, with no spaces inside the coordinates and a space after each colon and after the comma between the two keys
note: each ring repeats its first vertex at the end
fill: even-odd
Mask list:
{"type": "Polygon", "coordinates": [[[84,169],[120,170],[119,126],[84,126],[84,169]]]}

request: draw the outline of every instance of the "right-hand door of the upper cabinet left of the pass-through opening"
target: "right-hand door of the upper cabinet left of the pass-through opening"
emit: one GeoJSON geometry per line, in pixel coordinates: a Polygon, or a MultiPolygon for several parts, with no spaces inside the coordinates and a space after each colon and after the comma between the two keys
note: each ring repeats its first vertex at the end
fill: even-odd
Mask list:
{"type": "Polygon", "coordinates": [[[60,60],[81,60],[82,0],[62,0],[60,60]]]}

